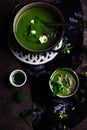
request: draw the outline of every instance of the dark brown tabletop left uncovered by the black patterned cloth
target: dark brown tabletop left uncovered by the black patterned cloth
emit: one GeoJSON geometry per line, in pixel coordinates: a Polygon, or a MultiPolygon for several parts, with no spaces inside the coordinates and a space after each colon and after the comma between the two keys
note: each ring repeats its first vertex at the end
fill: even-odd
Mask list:
{"type": "MultiPolygon", "coordinates": [[[[35,0],[32,0],[33,2],[35,0]]],[[[50,1],[50,0],[48,0],[50,1]]],[[[31,130],[19,114],[22,110],[32,107],[29,83],[22,88],[14,88],[8,82],[10,72],[16,68],[24,69],[21,63],[11,54],[8,48],[7,33],[11,23],[12,9],[18,3],[28,3],[29,0],[1,0],[0,1],[0,130],[31,130]],[[25,95],[24,102],[17,103],[14,94],[22,91],[25,95]]],[[[87,1],[81,0],[83,18],[87,20],[87,1]]],[[[87,31],[83,34],[83,43],[87,43],[87,31]]],[[[87,64],[84,54],[83,62],[77,70],[82,73],[82,67],[87,64]]],[[[87,118],[73,130],[87,130],[87,118]]]]}

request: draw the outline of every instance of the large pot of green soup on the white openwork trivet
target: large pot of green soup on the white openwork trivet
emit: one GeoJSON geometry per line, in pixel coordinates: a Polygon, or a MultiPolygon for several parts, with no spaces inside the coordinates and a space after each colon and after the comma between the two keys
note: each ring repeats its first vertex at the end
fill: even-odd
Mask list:
{"type": "Polygon", "coordinates": [[[31,52],[44,52],[55,48],[63,38],[64,27],[51,27],[49,23],[64,23],[61,11],[46,2],[23,6],[13,20],[13,34],[17,42],[31,52]]]}

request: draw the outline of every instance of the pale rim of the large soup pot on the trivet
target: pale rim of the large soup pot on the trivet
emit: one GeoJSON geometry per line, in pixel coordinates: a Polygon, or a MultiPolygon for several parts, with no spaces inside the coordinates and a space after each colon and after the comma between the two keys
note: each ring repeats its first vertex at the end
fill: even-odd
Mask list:
{"type": "Polygon", "coordinates": [[[12,28],[13,28],[13,35],[14,35],[14,37],[15,37],[15,40],[19,43],[19,45],[20,45],[21,47],[23,47],[24,49],[26,49],[26,50],[28,50],[28,51],[30,51],[30,52],[42,53],[42,52],[49,51],[50,49],[53,49],[56,45],[58,45],[58,43],[61,41],[61,39],[62,39],[63,36],[64,36],[65,28],[64,28],[64,27],[62,28],[61,36],[59,37],[59,39],[58,39],[55,43],[53,43],[50,47],[48,47],[48,48],[45,48],[45,49],[42,49],[42,50],[32,50],[32,49],[29,49],[29,48],[23,46],[23,45],[21,44],[20,40],[17,38],[16,33],[15,33],[16,21],[18,20],[19,16],[20,16],[24,11],[26,11],[27,9],[29,9],[29,8],[32,7],[32,6],[37,6],[37,5],[40,5],[40,6],[41,6],[41,5],[43,5],[43,6],[45,6],[45,5],[46,5],[46,6],[49,6],[49,8],[52,8],[52,9],[56,12],[56,14],[57,14],[57,13],[59,14],[59,17],[61,18],[61,21],[62,21],[62,22],[65,21],[65,20],[64,20],[64,16],[63,16],[62,12],[60,11],[60,9],[57,8],[56,6],[52,5],[51,3],[47,3],[47,2],[31,2],[31,3],[29,3],[29,4],[24,5],[24,6],[23,6],[21,9],[19,9],[19,11],[16,13],[16,15],[15,15],[15,17],[14,17],[14,19],[13,19],[13,27],[12,27],[12,28]]]}

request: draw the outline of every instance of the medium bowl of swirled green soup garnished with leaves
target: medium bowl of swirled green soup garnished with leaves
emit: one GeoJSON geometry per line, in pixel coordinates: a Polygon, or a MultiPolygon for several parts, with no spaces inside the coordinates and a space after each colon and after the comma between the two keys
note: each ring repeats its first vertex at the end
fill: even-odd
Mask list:
{"type": "Polygon", "coordinates": [[[49,86],[54,96],[71,97],[79,88],[79,78],[74,70],[58,68],[51,74],[49,86]]]}

